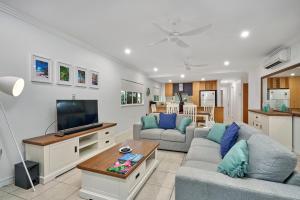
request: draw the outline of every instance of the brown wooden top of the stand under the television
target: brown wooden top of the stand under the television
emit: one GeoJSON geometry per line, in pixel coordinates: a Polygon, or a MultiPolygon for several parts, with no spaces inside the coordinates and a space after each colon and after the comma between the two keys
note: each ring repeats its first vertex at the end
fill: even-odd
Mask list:
{"type": "Polygon", "coordinates": [[[49,144],[54,144],[54,143],[57,143],[57,142],[61,142],[61,141],[64,141],[64,140],[68,140],[68,139],[71,139],[71,138],[82,136],[82,135],[85,135],[85,134],[88,134],[88,133],[92,133],[94,131],[99,131],[99,130],[102,130],[102,129],[110,128],[110,127],[113,127],[113,126],[116,126],[116,125],[117,125],[116,123],[103,123],[103,126],[101,126],[101,127],[92,128],[92,129],[85,130],[85,131],[80,131],[78,133],[65,135],[63,137],[55,136],[55,133],[51,133],[51,134],[48,134],[48,135],[43,135],[43,136],[39,136],[39,137],[26,139],[26,140],[23,140],[23,142],[26,143],[26,144],[46,146],[46,145],[49,145],[49,144]]]}

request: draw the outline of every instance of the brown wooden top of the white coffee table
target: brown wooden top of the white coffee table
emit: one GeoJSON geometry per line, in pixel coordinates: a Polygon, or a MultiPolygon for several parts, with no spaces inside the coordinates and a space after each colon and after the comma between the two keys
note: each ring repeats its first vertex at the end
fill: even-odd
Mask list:
{"type": "Polygon", "coordinates": [[[147,157],[158,148],[159,143],[153,141],[145,141],[145,140],[127,140],[123,143],[119,143],[106,151],[99,153],[98,155],[88,159],[77,165],[77,168],[81,170],[86,170],[98,174],[105,174],[109,176],[114,176],[118,178],[125,179],[127,178],[133,171],[136,169],[147,157]],[[124,154],[119,152],[119,149],[122,146],[129,145],[133,150],[132,153],[142,154],[144,157],[135,164],[132,169],[126,174],[118,174],[115,172],[107,171],[107,168],[111,167],[118,158],[123,156],[124,154]]]}

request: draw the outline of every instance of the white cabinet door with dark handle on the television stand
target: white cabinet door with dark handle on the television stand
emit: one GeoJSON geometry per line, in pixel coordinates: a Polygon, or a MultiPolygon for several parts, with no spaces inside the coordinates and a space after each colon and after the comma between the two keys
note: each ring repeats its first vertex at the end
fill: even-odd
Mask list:
{"type": "Polygon", "coordinates": [[[50,171],[56,171],[79,159],[78,138],[66,140],[53,145],[49,149],[50,171]]]}

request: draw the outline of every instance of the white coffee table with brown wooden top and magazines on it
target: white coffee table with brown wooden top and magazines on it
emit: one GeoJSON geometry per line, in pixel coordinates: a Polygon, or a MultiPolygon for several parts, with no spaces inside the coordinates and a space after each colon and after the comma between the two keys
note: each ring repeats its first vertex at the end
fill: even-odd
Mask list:
{"type": "Polygon", "coordinates": [[[80,163],[77,166],[82,170],[80,196],[93,200],[133,199],[158,166],[158,146],[158,142],[127,140],[80,163]],[[123,155],[119,148],[126,145],[133,149],[132,153],[144,157],[124,175],[107,171],[123,155]]]}

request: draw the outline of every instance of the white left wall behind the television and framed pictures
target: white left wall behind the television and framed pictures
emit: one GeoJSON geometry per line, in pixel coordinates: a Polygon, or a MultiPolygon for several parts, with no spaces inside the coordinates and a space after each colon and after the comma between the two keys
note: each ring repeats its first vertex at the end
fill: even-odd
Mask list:
{"type": "MultiPolygon", "coordinates": [[[[1,12],[0,24],[0,76],[23,77],[26,82],[24,92],[19,98],[0,94],[0,101],[7,110],[20,145],[22,139],[42,135],[47,126],[55,120],[57,99],[71,99],[72,94],[76,94],[77,99],[98,99],[100,121],[117,122],[118,132],[123,132],[130,129],[133,122],[138,121],[140,116],[147,112],[149,98],[146,98],[143,106],[121,107],[121,79],[143,83],[145,90],[147,87],[152,88],[152,91],[153,87],[161,87],[161,84],[149,80],[142,73],[129,69],[120,62],[79,47],[1,12]],[[32,83],[32,54],[97,70],[100,72],[101,87],[95,90],[32,83]]],[[[55,131],[55,128],[50,129],[50,132],[55,131]]],[[[1,112],[0,148],[3,148],[3,155],[0,157],[1,186],[13,176],[13,164],[20,161],[1,112]]]]}

